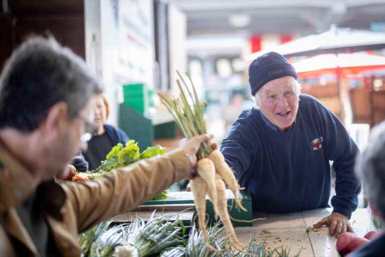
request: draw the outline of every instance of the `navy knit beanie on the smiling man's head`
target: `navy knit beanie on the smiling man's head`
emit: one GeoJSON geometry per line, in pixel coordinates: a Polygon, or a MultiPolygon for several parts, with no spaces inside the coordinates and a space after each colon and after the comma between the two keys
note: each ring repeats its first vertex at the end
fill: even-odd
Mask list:
{"type": "Polygon", "coordinates": [[[285,76],[298,79],[297,72],[285,57],[275,52],[259,56],[249,66],[251,94],[255,95],[267,82],[285,76]]]}

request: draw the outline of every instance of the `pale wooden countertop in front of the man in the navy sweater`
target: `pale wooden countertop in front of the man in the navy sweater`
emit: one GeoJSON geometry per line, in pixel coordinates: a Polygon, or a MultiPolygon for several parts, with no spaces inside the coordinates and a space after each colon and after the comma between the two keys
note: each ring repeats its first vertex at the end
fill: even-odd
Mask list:
{"type": "MultiPolygon", "coordinates": [[[[289,214],[253,213],[254,218],[265,218],[253,223],[251,227],[236,227],[235,231],[242,244],[247,245],[254,234],[259,242],[266,239],[266,248],[288,246],[290,255],[301,249],[300,256],[333,257],[339,256],[335,248],[337,239],[329,236],[327,227],[306,232],[306,228],[329,215],[332,208],[316,209],[289,214]]],[[[357,236],[375,230],[364,208],[353,212],[350,223],[357,236]]]]}

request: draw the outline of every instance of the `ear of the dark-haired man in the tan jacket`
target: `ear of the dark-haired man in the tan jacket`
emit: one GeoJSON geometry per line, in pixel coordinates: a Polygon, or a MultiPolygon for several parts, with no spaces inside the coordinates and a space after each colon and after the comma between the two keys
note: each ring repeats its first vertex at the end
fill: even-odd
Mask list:
{"type": "Polygon", "coordinates": [[[68,105],[65,102],[54,104],[47,113],[42,123],[44,137],[47,139],[57,138],[68,122],[68,105]]]}

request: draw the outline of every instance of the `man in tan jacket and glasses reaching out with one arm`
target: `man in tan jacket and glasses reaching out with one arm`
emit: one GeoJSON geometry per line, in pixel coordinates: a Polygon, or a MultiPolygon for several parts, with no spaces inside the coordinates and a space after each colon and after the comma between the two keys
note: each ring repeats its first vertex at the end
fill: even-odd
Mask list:
{"type": "Polygon", "coordinates": [[[30,39],[0,77],[0,254],[80,256],[79,232],[190,175],[202,135],[179,149],[85,183],[54,181],[92,132],[101,92],[84,61],[56,41],[30,39]]]}

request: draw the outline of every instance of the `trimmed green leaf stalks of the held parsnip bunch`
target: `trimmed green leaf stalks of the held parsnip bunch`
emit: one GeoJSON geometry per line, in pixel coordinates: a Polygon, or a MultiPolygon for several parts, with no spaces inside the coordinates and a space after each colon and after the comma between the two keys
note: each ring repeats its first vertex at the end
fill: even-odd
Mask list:
{"type": "MultiPolygon", "coordinates": [[[[158,95],[161,98],[162,103],[173,116],[175,122],[180,127],[185,138],[190,139],[195,136],[206,134],[207,129],[204,119],[204,108],[206,107],[206,103],[199,100],[197,90],[195,89],[193,80],[191,80],[190,74],[186,72],[186,76],[191,84],[193,93],[191,93],[191,90],[188,88],[187,83],[184,81],[180,73],[178,71],[176,72],[180,79],[176,80],[180,91],[179,97],[169,98],[161,92],[158,92],[158,95]],[[187,91],[188,97],[186,97],[183,88],[187,91]],[[188,103],[188,99],[191,100],[192,105],[188,103]]],[[[201,144],[197,157],[199,160],[206,158],[212,151],[213,149],[210,145],[207,142],[204,142],[201,144]]]]}

